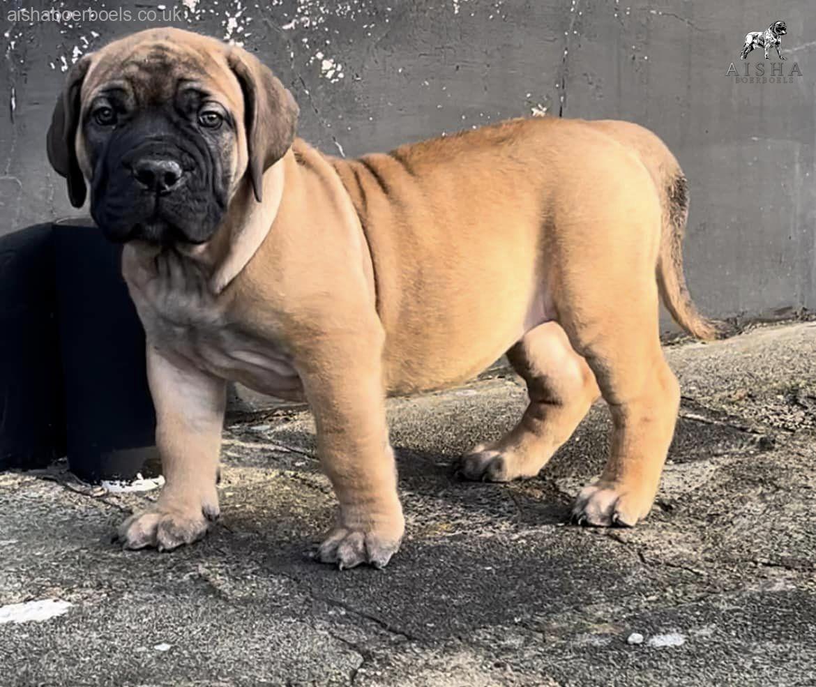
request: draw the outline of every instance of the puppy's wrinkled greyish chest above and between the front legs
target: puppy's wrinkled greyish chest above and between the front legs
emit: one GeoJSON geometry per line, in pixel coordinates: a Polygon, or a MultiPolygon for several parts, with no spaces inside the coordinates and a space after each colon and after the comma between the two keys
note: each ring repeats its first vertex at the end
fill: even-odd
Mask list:
{"type": "Polygon", "coordinates": [[[141,279],[125,274],[148,342],[182,366],[196,366],[258,392],[299,398],[297,372],[274,337],[237,321],[228,299],[213,295],[197,268],[169,260],[166,269],[159,265],[156,273],[143,273],[141,279]]]}

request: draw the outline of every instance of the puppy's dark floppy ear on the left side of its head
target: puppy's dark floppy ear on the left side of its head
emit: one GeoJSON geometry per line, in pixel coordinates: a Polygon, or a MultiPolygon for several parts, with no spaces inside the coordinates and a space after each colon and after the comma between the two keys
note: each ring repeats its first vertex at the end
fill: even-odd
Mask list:
{"type": "Polygon", "coordinates": [[[68,181],[68,197],[74,207],[82,207],[86,194],[85,179],[82,177],[82,170],[79,169],[74,141],[79,126],[81,106],[79,94],[90,66],[91,55],[85,55],[73,65],[65,87],[56,100],[54,113],[51,115],[51,126],[48,128],[46,146],[48,162],[51,162],[55,171],[68,181]]]}

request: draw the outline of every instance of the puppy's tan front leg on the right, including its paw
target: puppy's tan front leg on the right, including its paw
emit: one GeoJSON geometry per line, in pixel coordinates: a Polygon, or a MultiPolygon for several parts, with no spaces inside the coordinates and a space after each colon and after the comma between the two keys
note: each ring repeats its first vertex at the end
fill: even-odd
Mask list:
{"type": "Polygon", "coordinates": [[[317,452],[339,501],[335,527],[317,556],[341,569],[382,568],[405,530],[385,421],[383,339],[379,323],[368,333],[327,337],[299,365],[317,452]]]}

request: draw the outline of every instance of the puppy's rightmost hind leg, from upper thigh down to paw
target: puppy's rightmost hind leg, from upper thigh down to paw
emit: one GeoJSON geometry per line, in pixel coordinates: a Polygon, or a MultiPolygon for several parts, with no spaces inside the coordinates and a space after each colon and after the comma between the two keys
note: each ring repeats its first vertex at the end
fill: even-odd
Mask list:
{"type": "Polygon", "coordinates": [[[574,243],[550,242],[552,310],[612,415],[609,459],[574,504],[589,525],[635,525],[650,512],[680,406],[659,336],[663,208],[645,167],[619,157],[618,171],[596,180],[603,202],[577,213],[577,192],[565,199],[558,231],[574,243]]]}

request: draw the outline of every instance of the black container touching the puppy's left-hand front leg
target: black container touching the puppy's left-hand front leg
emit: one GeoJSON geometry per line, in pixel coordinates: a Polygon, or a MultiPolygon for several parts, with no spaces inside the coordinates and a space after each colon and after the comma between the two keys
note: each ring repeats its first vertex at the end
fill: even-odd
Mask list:
{"type": "Polygon", "coordinates": [[[90,219],[54,225],[67,453],[71,471],[89,482],[160,470],[144,330],[121,256],[90,219]]]}

